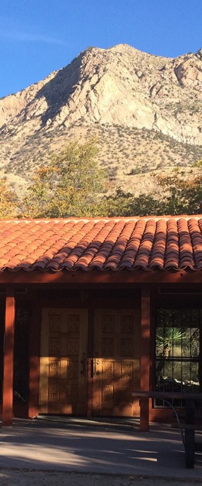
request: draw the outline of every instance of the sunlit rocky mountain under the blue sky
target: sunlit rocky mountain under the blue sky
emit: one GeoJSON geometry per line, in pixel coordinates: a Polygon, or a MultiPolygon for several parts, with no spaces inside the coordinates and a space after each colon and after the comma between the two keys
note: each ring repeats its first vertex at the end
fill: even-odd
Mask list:
{"type": "Polygon", "coordinates": [[[97,135],[114,187],[202,156],[202,50],[175,59],[129,45],[90,47],[43,81],[0,99],[0,170],[18,185],[69,139],[97,135]]]}

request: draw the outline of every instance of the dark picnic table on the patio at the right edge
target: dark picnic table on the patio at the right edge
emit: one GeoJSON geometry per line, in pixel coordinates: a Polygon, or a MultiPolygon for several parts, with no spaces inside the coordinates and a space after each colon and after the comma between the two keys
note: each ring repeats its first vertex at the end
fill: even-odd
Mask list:
{"type": "Polygon", "coordinates": [[[202,404],[202,393],[138,390],[138,391],[134,391],[132,393],[132,396],[133,398],[140,398],[140,400],[145,400],[148,398],[162,400],[172,408],[172,410],[174,411],[174,415],[177,419],[176,427],[180,429],[182,434],[182,442],[185,451],[186,468],[193,469],[195,452],[202,451],[202,441],[197,442],[195,440],[195,431],[202,430],[202,427],[201,424],[198,424],[194,420],[195,412],[196,412],[196,403],[197,402],[200,403],[200,407],[202,404]],[[172,404],[172,400],[185,400],[186,415],[185,415],[184,423],[180,422],[179,413],[177,412],[176,407],[172,404]]]}

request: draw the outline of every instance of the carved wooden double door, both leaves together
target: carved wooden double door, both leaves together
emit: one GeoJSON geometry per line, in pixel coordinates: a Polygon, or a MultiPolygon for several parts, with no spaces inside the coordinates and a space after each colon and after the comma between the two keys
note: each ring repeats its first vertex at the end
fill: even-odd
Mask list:
{"type": "Polygon", "coordinates": [[[135,310],[95,309],[91,329],[87,309],[43,309],[40,413],[138,415],[139,337],[135,310]]]}

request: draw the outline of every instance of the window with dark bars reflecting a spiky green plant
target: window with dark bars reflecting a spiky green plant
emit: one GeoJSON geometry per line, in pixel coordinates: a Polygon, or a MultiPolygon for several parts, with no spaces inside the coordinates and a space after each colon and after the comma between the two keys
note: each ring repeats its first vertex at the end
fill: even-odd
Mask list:
{"type": "MultiPolygon", "coordinates": [[[[202,391],[201,334],[201,309],[158,309],[155,325],[156,390],[202,391]]],[[[182,402],[174,400],[174,405],[182,406],[182,402]]],[[[162,405],[162,400],[156,400],[155,405],[162,405]]]]}

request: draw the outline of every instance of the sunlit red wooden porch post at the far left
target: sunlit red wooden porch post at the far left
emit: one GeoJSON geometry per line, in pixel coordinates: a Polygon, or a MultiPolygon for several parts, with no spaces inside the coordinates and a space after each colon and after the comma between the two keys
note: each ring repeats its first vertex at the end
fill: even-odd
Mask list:
{"type": "Polygon", "coordinates": [[[6,291],[4,332],[4,383],[2,425],[12,425],[13,419],[13,361],[16,301],[13,289],[6,291]]]}

